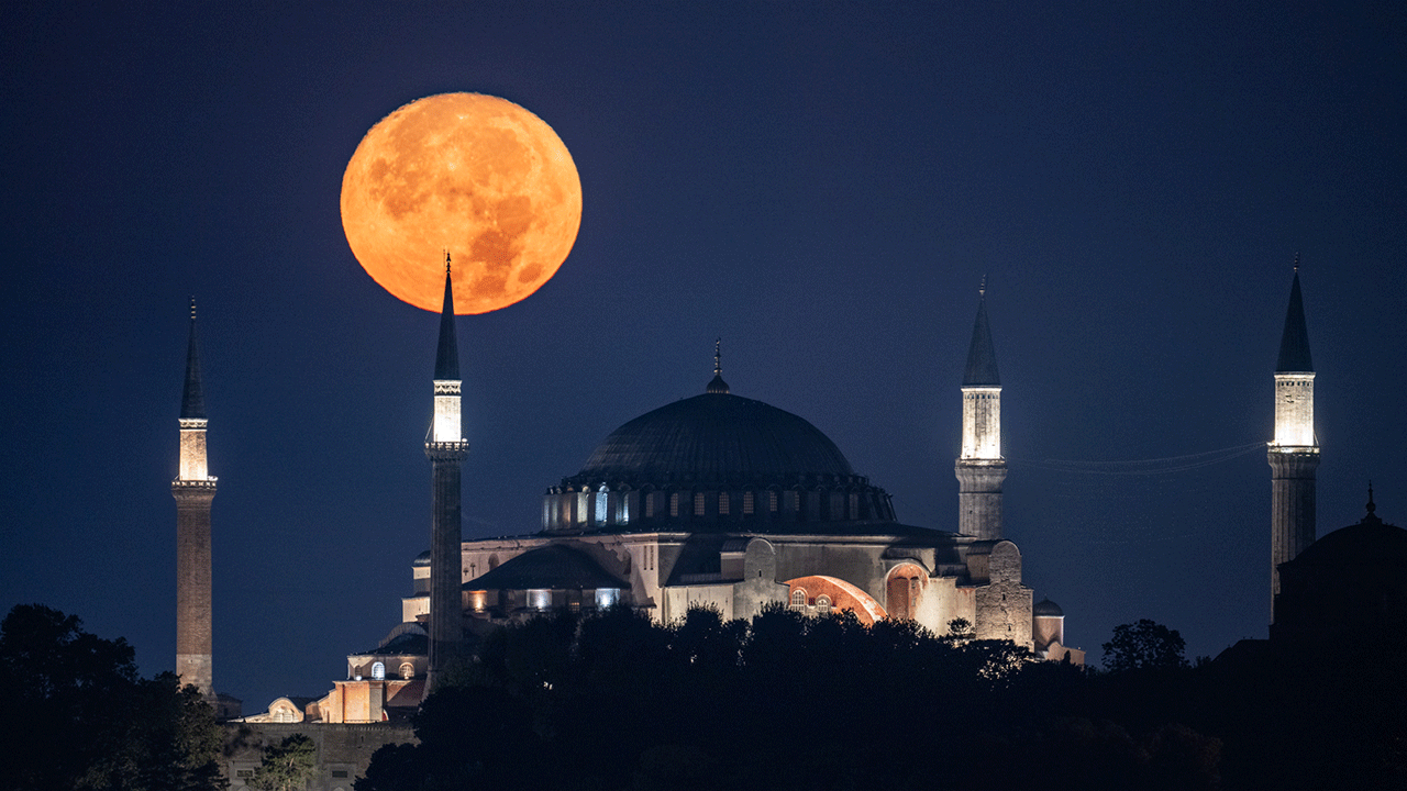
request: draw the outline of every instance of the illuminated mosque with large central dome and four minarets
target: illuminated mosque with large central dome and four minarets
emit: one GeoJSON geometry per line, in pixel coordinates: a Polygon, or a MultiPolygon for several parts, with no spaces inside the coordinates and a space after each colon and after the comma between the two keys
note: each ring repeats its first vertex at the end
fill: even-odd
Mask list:
{"type": "MultiPolygon", "coordinates": [[[[960,386],[958,532],[898,521],[889,494],[857,473],[825,434],[798,415],[733,394],[716,350],[704,393],[622,424],[580,472],[546,490],[540,531],[476,540],[460,536],[469,445],[460,426],[450,289],[446,277],[435,417],[425,443],[433,481],[431,549],[411,566],[402,624],[380,645],[349,654],[346,680],[325,697],[280,698],[246,721],[398,719],[419,705],[466,640],[557,608],[625,605],[657,622],[675,621],[691,607],[716,608],[725,619],[777,605],[815,616],[850,611],[864,624],[913,619],[934,633],[1012,640],[1041,659],[1083,663],[1082,650],[1064,645],[1064,612],[1048,600],[1034,602],[1021,583],[1020,549],[1003,538],[1002,384],[985,289],[960,386]]],[[[204,412],[193,407],[198,387],[193,318],[182,477],[173,491],[179,557],[208,569],[214,479],[205,476],[204,412]]],[[[1345,548],[1355,556],[1352,546],[1361,543],[1345,531],[1314,542],[1314,372],[1297,272],[1275,372],[1268,462],[1273,640],[1299,633],[1297,624],[1309,622],[1300,614],[1317,611],[1321,598],[1313,591],[1325,584],[1318,569],[1338,569],[1335,563],[1348,562],[1345,548]]],[[[1369,522],[1346,531],[1386,542],[1389,560],[1399,560],[1379,576],[1392,590],[1365,595],[1404,597],[1399,571],[1407,567],[1407,531],[1382,525],[1372,504],[1369,522]]],[[[177,659],[183,676],[198,678],[208,694],[208,570],[203,578],[183,570],[180,580],[177,659]]]]}

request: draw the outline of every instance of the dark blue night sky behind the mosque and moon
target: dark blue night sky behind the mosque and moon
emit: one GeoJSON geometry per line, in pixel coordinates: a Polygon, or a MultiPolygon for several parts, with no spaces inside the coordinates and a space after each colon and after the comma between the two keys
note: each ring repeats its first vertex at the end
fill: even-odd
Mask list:
{"type": "Polygon", "coordinates": [[[1006,535],[1068,642],[1263,638],[1296,252],[1320,535],[1369,479],[1407,525],[1407,10],[1047,6],[7,3],[0,605],[174,666],[194,294],[217,688],[322,695],[400,621],[438,317],[363,273],[338,197],[373,124],[464,90],[550,124],[584,196],[557,276],[459,321],[466,538],[539,529],[719,336],[734,394],[953,529],[986,274],[1006,535]]]}

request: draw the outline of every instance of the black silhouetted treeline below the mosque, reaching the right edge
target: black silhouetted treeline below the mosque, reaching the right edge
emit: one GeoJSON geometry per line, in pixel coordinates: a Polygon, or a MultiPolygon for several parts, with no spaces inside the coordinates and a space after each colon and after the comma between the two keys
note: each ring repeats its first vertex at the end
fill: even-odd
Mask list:
{"type": "Polygon", "coordinates": [[[1176,632],[1130,629],[1106,647],[1124,666],[1086,673],[1029,662],[1010,643],[934,638],[912,622],[865,628],[850,614],[775,608],[746,624],[694,609],[673,626],[628,609],[543,616],[488,638],[422,707],[421,743],[380,750],[356,788],[1380,788],[1407,778],[1400,671],[1189,667],[1176,632]],[[1175,652],[1128,642],[1169,633],[1175,652]]]}

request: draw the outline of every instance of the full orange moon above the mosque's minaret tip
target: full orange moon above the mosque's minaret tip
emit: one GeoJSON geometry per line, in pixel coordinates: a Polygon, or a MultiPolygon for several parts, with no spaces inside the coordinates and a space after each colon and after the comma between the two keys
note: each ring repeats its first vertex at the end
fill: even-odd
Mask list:
{"type": "Polygon", "coordinates": [[[542,287],[581,228],[581,179],[546,122],[478,93],[401,107],[362,138],[342,176],[342,229],[383,289],[439,312],[445,251],[454,312],[488,312],[542,287]]]}

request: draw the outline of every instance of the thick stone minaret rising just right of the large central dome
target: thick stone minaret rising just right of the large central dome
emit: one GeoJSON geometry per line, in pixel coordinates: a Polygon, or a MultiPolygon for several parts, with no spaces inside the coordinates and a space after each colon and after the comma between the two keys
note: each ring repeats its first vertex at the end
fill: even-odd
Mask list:
{"type": "Polygon", "coordinates": [[[1002,380],[986,324],[986,277],[978,289],[976,324],[962,374],[962,455],[958,457],[958,532],[1002,538],[1002,380]]]}

